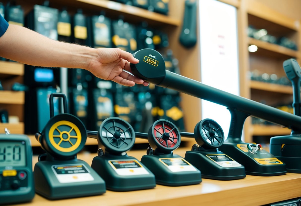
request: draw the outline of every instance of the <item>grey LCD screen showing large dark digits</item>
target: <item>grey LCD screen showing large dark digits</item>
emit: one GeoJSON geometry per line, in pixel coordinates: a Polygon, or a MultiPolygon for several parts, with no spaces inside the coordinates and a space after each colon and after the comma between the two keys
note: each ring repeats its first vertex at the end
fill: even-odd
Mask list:
{"type": "Polygon", "coordinates": [[[0,141],[0,167],[26,166],[24,141],[0,141]]]}

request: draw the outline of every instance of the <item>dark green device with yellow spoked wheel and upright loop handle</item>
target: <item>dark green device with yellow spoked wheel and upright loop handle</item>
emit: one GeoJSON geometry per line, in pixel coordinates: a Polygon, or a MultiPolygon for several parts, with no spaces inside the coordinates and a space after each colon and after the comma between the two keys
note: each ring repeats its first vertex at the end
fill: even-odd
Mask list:
{"type": "Polygon", "coordinates": [[[85,146],[87,131],[82,121],[67,113],[63,93],[50,95],[50,120],[36,139],[47,152],[34,168],[36,192],[48,199],[100,195],[106,192],[104,180],[76,154],[85,146]],[[54,115],[53,98],[61,97],[64,113],[54,115]]]}

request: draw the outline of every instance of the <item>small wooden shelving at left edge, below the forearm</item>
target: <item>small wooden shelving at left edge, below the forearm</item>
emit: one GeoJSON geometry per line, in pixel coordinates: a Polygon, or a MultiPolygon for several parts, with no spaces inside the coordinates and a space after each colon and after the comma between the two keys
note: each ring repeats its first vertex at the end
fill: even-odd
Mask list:
{"type": "Polygon", "coordinates": [[[19,123],[0,123],[0,132],[8,128],[11,133],[23,134],[23,105],[24,92],[10,91],[14,82],[22,82],[24,75],[24,65],[17,62],[0,61],[0,81],[4,90],[0,90],[0,109],[8,111],[8,115],[17,116],[19,123]]]}

